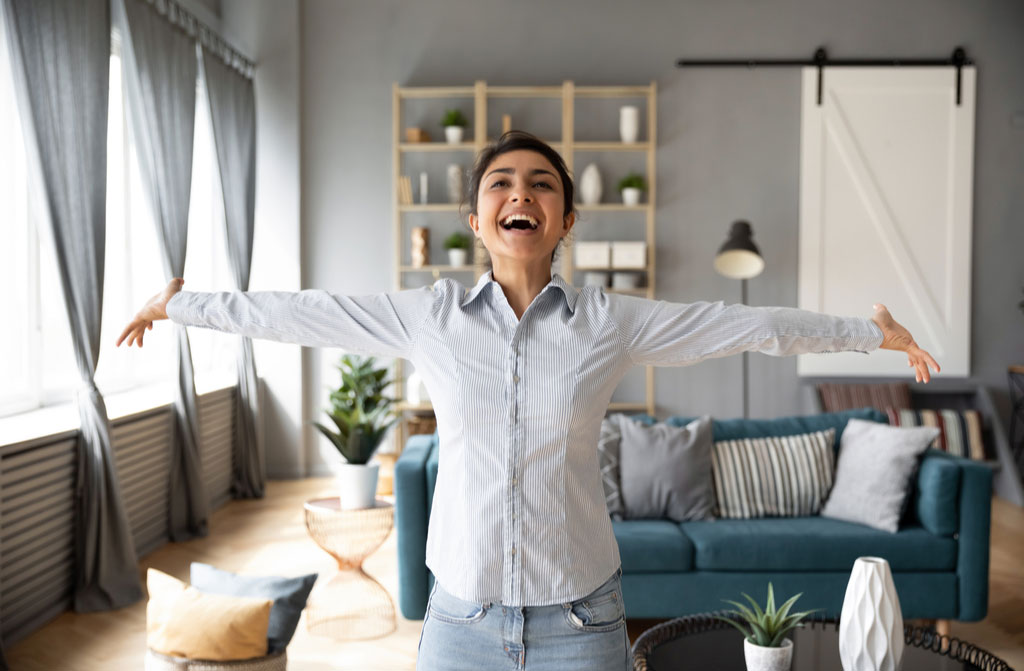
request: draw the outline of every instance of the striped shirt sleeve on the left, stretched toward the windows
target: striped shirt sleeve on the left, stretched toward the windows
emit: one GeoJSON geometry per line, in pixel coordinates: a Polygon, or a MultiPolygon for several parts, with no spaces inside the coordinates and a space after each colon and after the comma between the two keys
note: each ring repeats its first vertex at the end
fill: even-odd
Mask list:
{"type": "Polygon", "coordinates": [[[409,359],[442,286],[366,296],[319,289],[179,291],[167,302],[167,317],[250,338],[409,359]]]}

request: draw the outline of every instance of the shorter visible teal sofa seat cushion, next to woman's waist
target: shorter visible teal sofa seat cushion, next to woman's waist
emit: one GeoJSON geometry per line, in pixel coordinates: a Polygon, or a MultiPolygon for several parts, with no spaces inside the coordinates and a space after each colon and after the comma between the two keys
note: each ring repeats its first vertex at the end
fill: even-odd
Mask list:
{"type": "Polygon", "coordinates": [[[668,519],[612,521],[623,573],[678,573],[693,570],[693,543],[668,519]]]}

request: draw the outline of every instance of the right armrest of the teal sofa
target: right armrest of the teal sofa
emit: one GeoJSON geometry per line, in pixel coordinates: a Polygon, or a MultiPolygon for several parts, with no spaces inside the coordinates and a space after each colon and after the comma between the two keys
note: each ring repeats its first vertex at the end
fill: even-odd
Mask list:
{"type": "MultiPolygon", "coordinates": [[[[959,469],[957,497],[957,616],[964,622],[983,620],[988,612],[988,553],[992,515],[992,469],[985,464],[930,449],[925,463],[941,460],[959,469]]],[[[920,495],[919,495],[920,496],[920,495]]],[[[927,496],[927,495],[926,495],[927,496]]],[[[919,504],[921,504],[919,499],[919,504]]],[[[920,510],[920,508],[919,508],[920,510]]]]}

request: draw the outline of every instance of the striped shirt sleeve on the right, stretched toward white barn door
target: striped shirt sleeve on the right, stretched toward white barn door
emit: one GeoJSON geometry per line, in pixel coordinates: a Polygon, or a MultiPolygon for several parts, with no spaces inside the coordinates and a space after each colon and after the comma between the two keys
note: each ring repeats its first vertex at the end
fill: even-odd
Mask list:
{"type": "Polygon", "coordinates": [[[741,351],[773,357],[867,353],[883,340],[882,329],[867,318],[834,317],[796,307],[671,303],[602,295],[623,346],[638,366],[688,366],[741,351]]]}

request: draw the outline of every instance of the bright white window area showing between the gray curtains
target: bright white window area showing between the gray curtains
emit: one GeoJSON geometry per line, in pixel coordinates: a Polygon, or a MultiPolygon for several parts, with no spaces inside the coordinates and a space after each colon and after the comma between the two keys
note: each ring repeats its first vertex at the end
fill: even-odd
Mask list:
{"type": "MultiPolygon", "coordinates": [[[[0,417],[74,400],[79,387],[72,336],[48,226],[33,204],[25,141],[0,26],[0,417]]],[[[135,311],[166,286],[156,223],[131,144],[117,35],[111,56],[106,154],[103,319],[96,384],[104,394],[175,381],[174,328],[159,323],[145,346],[114,343],[135,311]]],[[[224,244],[223,202],[205,92],[197,100],[186,288],[234,288],[224,244]]],[[[238,337],[190,329],[200,391],[233,384],[238,337]]]]}

